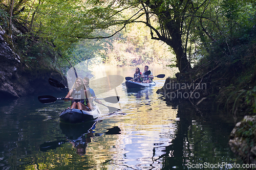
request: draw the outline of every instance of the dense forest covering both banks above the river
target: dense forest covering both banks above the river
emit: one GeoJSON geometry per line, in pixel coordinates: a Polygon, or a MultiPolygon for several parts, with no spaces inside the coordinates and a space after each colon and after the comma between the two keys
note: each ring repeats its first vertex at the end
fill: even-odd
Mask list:
{"type": "MultiPolygon", "coordinates": [[[[69,62],[92,57],[117,66],[162,63],[179,69],[174,82],[206,83],[203,100],[232,114],[256,113],[255,1],[0,0],[0,20],[1,43],[34,76],[63,74],[69,62]]],[[[165,87],[159,93],[170,92],[165,87]]],[[[256,142],[250,126],[236,136],[252,138],[249,148],[256,142]]]]}

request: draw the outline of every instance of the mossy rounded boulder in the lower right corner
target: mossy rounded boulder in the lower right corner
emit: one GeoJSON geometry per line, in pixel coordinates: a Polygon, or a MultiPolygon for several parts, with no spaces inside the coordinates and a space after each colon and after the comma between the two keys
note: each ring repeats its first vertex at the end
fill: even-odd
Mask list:
{"type": "Polygon", "coordinates": [[[232,152],[239,155],[245,164],[256,164],[256,116],[245,116],[230,134],[232,152]]]}

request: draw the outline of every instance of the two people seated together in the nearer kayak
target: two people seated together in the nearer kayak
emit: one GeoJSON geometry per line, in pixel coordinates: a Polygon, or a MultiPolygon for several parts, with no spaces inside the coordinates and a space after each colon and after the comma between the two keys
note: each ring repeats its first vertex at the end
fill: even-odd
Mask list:
{"type": "MultiPolygon", "coordinates": [[[[71,100],[71,107],[69,109],[79,109],[79,110],[93,110],[92,100],[96,98],[95,92],[89,87],[90,79],[84,77],[83,79],[78,77],[72,89],[68,92],[65,98],[71,100]],[[79,100],[74,100],[79,99],[79,100]]],[[[69,100],[65,100],[69,101],[69,100]]],[[[96,100],[97,103],[102,104],[101,101],[96,100]]]]}

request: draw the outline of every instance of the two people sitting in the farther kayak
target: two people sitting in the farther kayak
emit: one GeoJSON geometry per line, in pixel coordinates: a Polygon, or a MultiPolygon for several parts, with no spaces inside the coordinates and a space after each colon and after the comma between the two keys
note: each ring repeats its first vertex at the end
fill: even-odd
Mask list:
{"type": "Polygon", "coordinates": [[[145,65],[144,67],[144,72],[141,73],[140,69],[137,67],[135,74],[134,74],[134,79],[133,81],[138,82],[138,83],[151,83],[152,80],[154,79],[154,76],[152,72],[150,71],[150,74],[145,74],[148,71],[148,66],[145,65]]]}

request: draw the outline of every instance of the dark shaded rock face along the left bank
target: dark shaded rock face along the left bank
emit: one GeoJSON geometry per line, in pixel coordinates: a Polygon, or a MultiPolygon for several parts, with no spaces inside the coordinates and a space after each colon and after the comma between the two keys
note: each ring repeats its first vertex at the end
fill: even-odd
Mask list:
{"type": "Polygon", "coordinates": [[[19,98],[23,95],[58,90],[49,85],[48,78],[55,78],[59,81],[65,78],[57,71],[46,72],[41,79],[26,74],[22,63],[20,63],[20,57],[13,52],[5,41],[5,35],[5,31],[0,26],[0,96],[19,98]]]}

